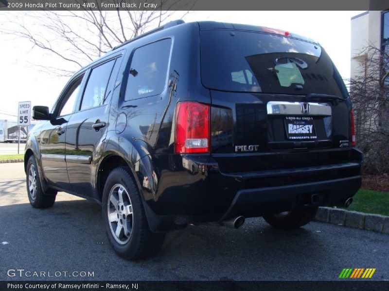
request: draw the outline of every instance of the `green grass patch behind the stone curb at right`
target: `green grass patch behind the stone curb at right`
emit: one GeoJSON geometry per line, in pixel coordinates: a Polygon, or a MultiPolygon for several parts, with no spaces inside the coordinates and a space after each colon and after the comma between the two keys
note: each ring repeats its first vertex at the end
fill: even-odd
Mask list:
{"type": "Polygon", "coordinates": [[[389,193],[361,189],[347,210],[389,216],[389,193]]]}

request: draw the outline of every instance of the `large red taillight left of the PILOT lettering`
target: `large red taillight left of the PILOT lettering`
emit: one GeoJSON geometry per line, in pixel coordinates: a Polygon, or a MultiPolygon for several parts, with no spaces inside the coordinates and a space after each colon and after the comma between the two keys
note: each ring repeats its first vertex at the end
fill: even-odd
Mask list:
{"type": "Polygon", "coordinates": [[[210,106],[192,101],[177,104],[176,153],[210,151],[210,106]]]}

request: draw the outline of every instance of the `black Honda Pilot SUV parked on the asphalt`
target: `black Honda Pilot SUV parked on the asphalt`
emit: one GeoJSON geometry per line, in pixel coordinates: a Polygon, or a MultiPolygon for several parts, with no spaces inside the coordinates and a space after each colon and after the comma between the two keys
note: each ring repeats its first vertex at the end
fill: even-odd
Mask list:
{"type": "Polygon", "coordinates": [[[241,24],[170,22],[78,71],[25,150],[33,207],[102,205],[125,259],[189,224],[310,222],[361,184],[347,89],[315,41],[241,24]]]}

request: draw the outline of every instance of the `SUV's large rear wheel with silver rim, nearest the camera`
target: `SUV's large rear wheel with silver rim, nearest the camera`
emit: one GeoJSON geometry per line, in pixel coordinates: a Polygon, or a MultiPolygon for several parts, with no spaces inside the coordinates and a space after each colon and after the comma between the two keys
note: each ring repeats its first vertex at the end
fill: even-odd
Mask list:
{"type": "Polygon", "coordinates": [[[108,241],[116,254],[136,260],[149,258],[160,250],[165,234],[151,232],[140,191],[128,168],[116,168],[108,175],[102,203],[108,241]],[[131,231],[126,234],[129,227],[131,231]]]}

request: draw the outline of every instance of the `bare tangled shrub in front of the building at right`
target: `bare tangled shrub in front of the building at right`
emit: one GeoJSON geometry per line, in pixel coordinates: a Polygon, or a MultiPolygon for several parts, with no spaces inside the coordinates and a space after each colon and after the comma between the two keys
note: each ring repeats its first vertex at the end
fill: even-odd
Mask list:
{"type": "Polygon", "coordinates": [[[389,58],[388,51],[369,46],[354,57],[359,72],[350,80],[358,147],[364,170],[389,171],[389,58]]]}

